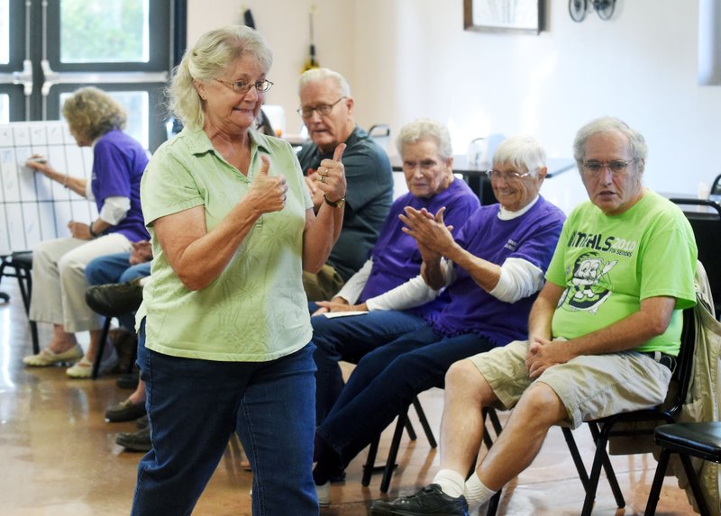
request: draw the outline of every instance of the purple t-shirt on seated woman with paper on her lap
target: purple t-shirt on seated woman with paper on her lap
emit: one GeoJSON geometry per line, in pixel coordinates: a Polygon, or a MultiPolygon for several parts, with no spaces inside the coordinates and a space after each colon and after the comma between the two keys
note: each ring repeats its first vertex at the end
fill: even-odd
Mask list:
{"type": "MultiPolygon", "coordinates": [[[[443,192],[429,199],[416,197],[410,192],[398,197],[390,207],[390,213],[383,223],[376,245],[370,251],[373,267],[360,293],[359,303],[403,285],[421,273],[423,263],[421,252],[415,239],[401,231],[404,224],[398,218],[399,214],[404,213],[403,209],[406,206],[412,206],[416,210],[425,208],[431,213],[436,213],[445,206],[443,221],[453,226],[452,233],[455,235],[470,215],[478,210],[479,205],[478,196],[460,179],[455,179],[443,192]]],[[[409,312],[423,315],[433,310],[433,307],[435,310],[440,309],[440,303],[441,300],[436,299],[409,312]]]]}

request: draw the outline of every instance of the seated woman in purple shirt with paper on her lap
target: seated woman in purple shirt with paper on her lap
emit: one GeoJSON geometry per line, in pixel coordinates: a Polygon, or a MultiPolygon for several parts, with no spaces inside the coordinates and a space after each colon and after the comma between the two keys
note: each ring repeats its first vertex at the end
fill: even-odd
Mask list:
{"type": "MultiPolygon", "coordinates": [[[[436,213],[445,209],[446,222],[461,228],[479,208],[478,197],[453,176],[451,135],[441,123],[418,119],[398,134],[408,193],[393,203],[363,267],[349,278],[331,301],[311,319],[315,350],[315,419],[320,424],[343,387],[340,360],[357,363],[366,353],[424,326],[424,317],[443,303],[420,275],[421,252],[415,239],[402,231],[398,216],[412,206],[436,213]],[[324,312],[356,312],[330,318],[324,312]]],[[[455,232],[456,230],[452,230],[455,232]]]]}

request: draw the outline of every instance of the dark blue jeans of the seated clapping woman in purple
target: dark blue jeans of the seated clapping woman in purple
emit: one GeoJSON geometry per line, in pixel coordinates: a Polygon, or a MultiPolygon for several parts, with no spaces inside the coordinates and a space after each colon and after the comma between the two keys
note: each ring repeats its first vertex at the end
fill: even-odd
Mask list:
{"type": "Polygon", "coordinates": [[[353,370],[341,396],[316,430],[316,469],[345,467],[406,407],[443,386],[453,362],[494,348],[474,333],[444,337],[425,326],[371,351],[353,370]]]}

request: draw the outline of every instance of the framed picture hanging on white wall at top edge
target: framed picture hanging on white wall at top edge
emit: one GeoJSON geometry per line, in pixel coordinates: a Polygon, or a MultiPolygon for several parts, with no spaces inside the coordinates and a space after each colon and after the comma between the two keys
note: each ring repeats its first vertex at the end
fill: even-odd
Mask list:
{"type": "Polygon", "coordinates": [[[543,30],[543,0],[463,0],[463,28],[538,34],[543,30]]]}

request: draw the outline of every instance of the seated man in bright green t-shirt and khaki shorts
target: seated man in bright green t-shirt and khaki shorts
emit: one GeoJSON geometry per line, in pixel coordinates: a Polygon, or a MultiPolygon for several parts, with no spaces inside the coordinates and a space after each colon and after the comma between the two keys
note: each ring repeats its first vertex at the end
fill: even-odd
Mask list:
{"type": "Polygon", "coordinates": [[[576,428],[665,399],[681,311],[696,303],[693,231],[676,205],[643,186],[646,144],[625,122],[589,122],[573,150],[589,201],[563,226],[528,340],[453,364],[434,483],[376,502],[372,514],[467,515],[531,464],[552,425],[576,428]],[[488,406],[515,409],[465,480],[488,406]]]}

